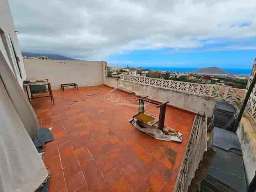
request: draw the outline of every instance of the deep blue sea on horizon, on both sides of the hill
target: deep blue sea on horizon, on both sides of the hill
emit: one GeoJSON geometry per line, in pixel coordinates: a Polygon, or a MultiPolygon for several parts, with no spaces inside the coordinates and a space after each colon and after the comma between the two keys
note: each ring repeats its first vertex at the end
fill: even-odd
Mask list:
{"type": "MultiPolygon", "coordinates": [[[[179,71],[192,72],[199,68],[176,68],[176,67],[157,67],[157,66],[143,66],[143,69],[158,70],[158,71],[179,71]]],[[[223,69],[233,74],[250,75],[251,69],[223,69]]]]}

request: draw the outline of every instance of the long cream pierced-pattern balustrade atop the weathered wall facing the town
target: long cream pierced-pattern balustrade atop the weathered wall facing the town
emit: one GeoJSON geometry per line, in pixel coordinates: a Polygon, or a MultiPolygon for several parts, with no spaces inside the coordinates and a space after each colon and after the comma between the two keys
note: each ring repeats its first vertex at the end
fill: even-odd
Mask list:
{"type": "Polygon", "coordinates": [[[162,89],[182,91],[190,94],[219,98],[226,101],[241,102],[244,98],[245,91],[244,89],[236,89],[227,86],[197,84],[191,82],[156,79],[133,75],[121,75],[121,80],[159,87],[162,89]]]}

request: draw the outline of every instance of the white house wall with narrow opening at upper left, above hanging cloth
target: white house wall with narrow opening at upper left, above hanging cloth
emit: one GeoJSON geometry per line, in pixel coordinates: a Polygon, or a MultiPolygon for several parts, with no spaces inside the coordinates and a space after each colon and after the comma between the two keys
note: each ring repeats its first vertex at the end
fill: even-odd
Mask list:
{"type": "Polygon", "coordinates": [[[15,34],[14,22],[12,20],[12,15],[10,7],[7,0],[0,1],[0,51],[4,55],[6,62],[11,68],[12,72],[18,79],[19,84],[22,86],[23,80],[26,79],[26,71],[22,59],[22,54],[20,50],[20,45],[18,43],[17,35],[15,34]],[[21,76],[18,74],[18,67],[16,64],[16,59],[12,52],[12,46],[10,39],[12,40],[15,48],[15,52],[20,62],[18,63],[21,70],[21,76]]]}

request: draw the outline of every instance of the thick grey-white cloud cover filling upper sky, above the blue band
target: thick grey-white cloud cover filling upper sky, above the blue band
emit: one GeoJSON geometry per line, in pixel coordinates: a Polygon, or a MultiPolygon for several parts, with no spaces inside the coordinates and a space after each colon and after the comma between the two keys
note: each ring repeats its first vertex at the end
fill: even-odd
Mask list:
{"type": "Polygon", "coordinates": [[[256,37],[255,0],[9,2],[22,50],[30,52],[104,60],[131,50],[256,37]]]}

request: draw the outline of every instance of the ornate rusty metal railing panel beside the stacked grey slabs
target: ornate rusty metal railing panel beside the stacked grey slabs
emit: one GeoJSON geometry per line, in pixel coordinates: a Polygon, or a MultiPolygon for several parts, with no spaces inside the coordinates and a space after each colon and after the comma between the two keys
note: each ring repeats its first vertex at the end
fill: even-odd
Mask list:
{"type": "Polygon", "coordinates": [[[188,140],[187,150],[180,167],[175,192],[185,192],[191,184],[196,169],[203,158],[206,149],[206,117],[197,115],[194,119],[191,135],[188,140]]]}

